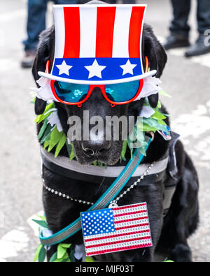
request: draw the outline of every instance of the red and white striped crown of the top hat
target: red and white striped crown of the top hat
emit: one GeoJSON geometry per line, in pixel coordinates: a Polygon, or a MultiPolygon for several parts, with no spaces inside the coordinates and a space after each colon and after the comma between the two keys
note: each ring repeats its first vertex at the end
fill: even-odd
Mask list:
{"type": "Polygon", "coordinates": [[[55,9],[55,58],[141,58],[146,6],[55,9]]]}

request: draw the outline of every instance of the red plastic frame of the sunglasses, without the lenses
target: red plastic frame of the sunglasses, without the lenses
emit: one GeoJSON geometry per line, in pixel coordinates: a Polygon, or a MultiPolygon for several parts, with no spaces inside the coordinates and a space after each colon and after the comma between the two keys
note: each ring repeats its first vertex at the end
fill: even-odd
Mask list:
{"type": "MultiPolygon", "coordinates": [[[[146,61],[146,73],[148,72],[148,57],[145,57],[145,61],[146,61]]],[[[50,61],[48,60],[47,61],[47,64],[46,64],[46,73],[49,73],[49,66],[50,66],[50,61]]],[[[139,96],[139,94],[141,93],[141,90],[143,88],[143,85],[144,85],[144,80],[141,79],[139,80],[139,89],[137,91],[137,94],[132,98],[130,99],[129,101],[123,101],[123,102],[115,102],[115,101],[111,101],[107,96],[106,96],[106,91],[105,91],[105,85],[89,85],[89,90],[87,92],[87,96],[85,96],[85,99],[83,99],[83,101],[79,101],[78,103],[69,103],[67,101],[62,101],[61,99],[59,99],[59,97],[57,96],[57,93],[55,92],[55,80],[51,80],[50,81],[50,87],[51,87],[51,90],[52,90],[52,94],[55,96],[55,99],[57,99],[57,101],[59,101],[60,103],[64,103],[64,104],[67,104],[69,106],[78,106],[78,107],[81,107],[82,104],[87,101],[87,99],[89,99],[90,95],[92,94],[92,91],[95,87],[99,87],[99,89],[101,89],[102,91],[102,94],[104,96],[104,98],[106,99],[106,101],[108,101],[109,103],[111,103],[111,106],[114,107],[116,105],[123,105],[123,104],[127,104],[127,103],[131,103],[132,101],[134,101],[135,99],[137,99],[137,97],[139,96]]]]}

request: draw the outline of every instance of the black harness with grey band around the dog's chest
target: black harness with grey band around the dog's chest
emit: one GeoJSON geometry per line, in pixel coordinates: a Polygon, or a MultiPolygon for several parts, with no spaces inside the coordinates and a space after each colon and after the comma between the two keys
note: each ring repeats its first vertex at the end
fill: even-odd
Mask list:
{"type": "MultiPolygon", "coordinates": [[[[178,169],[176,166],[176,153],[175,153],[175,145],[177,140],[179,139],[179,135],[177,133],[172,132],[172,140],[169,143],[169,150],[165,154],[162,159],[160,159],[160,164],[162,162],[167,161],[167,166],[165,166],[164,170],[160,169],[160,172],[153,173],[151,175],[146,175],[144,180],[141,182],[142,184],[151,184],[151,183],[158,183],[161,180],[164,181],[165,184],[165,191],[164,191],[164,201],[163,201],[163,208],[164,208],[164,217],[167,215],[167,212],[172,204],[172,197],[174,196],[174,192],[176,191],[176,184],[178,182],[177,175],[178,169]]],[[[103,173],[101,175],[97,175],[97,173],[87,171],[80,171],[81,167],[78,166],[78,162],[73,161],[73,167],[69,168],[66,164],[70,164],[69,159],[67,157],[62,157],[60,162],[57,162],[54,158],[53,154],[46,152],[45,150],[41,149],[41,158],[43,165],[48,168],[48,170],[52,171],[52,173],[57,173],[58,175],[62,175],[64,177],[69,177],[73,180],[80,180],[85,181],[88,183],[95,183],[95,184],[112,184],[116,177],[106,175],[104,176],[103,173]],[[66,163],[66,164],[65,164],[66,163]],[[77,167],[78,166],[78,167],[77,167]]],[[[157,162],[156,162],[157,163],[157,162]]],[[[147,166],[146,164],[140,166],[147,166]]],[[[85,167],[84,167],[85,168],[85,167]]],[[[108,167],[108,169],[111,167],[108,167]]],[[[114,167],[118,168],[118,167],[114,167]]],[[[97,168],[96,168],[97,169],[97,168]]],[[[100,170],[100,168],[98,168],[100,170]]],[[[96,172],[96,171],[95,171],[96,172]]],[[[138,176],[132,177],[132,181],[135,182],[139,179],[138,176]]],[[[125,189],[130,184],[127,183],[125,185],[125,189]]]]}

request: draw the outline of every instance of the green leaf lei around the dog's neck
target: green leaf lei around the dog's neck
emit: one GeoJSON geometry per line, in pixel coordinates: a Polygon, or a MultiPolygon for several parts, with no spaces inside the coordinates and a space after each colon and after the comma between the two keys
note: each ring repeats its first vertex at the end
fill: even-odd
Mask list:
{"type": "MultiPolygon", "coordinates": [[[[144,106],[149,106],[151,108],[148,101],[144,103],[144,106]]],[[[154,133],[156,131],[164,131],[165,133],[169,134],[169,128],[164,121],[168,115],[162,114],[162,112],[160,112],[160,108],[161,103],[159,101],[157,108],[153,108],[154,114],[150,118],[142,117],[141,122],[137,122],[132,133],[132,140],[128,138],[123,142],[123,149],[121,152],[120,161],[126,160],[125,153],[127,151],[127,147],[130,147],[130,154],[132,158],[132,142],[134,140],[138,141],[140,145],[140,152],[146,155],[146,131],[153,131],[154,133]]],[[[48,117],[52,114],[52,112],[55,112],[55,104],[49,103],[46,106],[43,114],[36,117],[35,122],[37,124],[42,123],[41,129],[38,133],[38,139],[40,139],[41,145],[43,145],[45,150],[48,150],[48,152],[51,152],[52,149],[55,149],[55,158],[59,155],[59,152],[62,150],[62,148],[66,147],[66,150],[69,154],[69,160],[72,161],[76,157],[73,151],[72,143],[69,144],[67,142],[67,137],[64,131],[59,132],[56,125],[52,125],[48,122],[48,117]]],[[[102,164],[102,162],[95,161],[94,166],[103,167],[104,164],[102,164]]]]}

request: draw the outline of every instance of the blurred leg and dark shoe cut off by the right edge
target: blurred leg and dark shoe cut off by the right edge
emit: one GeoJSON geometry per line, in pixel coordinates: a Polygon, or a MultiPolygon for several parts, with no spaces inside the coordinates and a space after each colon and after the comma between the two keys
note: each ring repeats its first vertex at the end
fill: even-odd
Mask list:
{"type": "Polygon", "coordinates": [[[197,0],[197,29],[199,36],[195,45],[186,52],[186,57],[204,55],[210,52],[210,46],[205,45],[207,36],[205,31],[210,30],[210,0],[197,0]]]}

